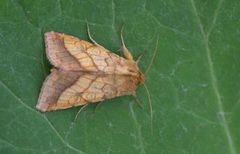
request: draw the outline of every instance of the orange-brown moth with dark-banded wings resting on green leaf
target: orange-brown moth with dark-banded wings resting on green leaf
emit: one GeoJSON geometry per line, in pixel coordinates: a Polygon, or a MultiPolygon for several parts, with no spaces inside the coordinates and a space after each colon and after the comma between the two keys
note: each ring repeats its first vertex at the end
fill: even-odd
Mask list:
{"type": "Polygon", "coordinates": [[[42,112],[83,106],[134,95],[144,75],[126,48],[124,57],[92,43],[58,32],[45,33],[46,55],[54,66],[45,79],[36,108],[42,112]]]}

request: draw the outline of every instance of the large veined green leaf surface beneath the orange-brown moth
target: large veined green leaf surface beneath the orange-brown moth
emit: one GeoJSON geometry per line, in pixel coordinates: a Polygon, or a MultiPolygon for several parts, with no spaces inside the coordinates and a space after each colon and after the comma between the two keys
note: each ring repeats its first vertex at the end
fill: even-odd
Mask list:
{"type": "Polygon", "coordinates": [[[1,0],[0,153],[240,153],[239,0],[1,0]],[[121,54],[125,43],[146,74],[148,95],[40,113],[52,67],[43,34],[58,31],[121,54]],[[159,43],[156,44],[159,37],[159,43]]]}

